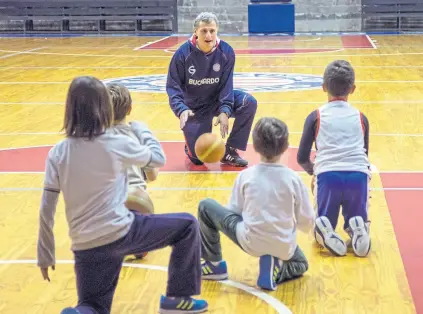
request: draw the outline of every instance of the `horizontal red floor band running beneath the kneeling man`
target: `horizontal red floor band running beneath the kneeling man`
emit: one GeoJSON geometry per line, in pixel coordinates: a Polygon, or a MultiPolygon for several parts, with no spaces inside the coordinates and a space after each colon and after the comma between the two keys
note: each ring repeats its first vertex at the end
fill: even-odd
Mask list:
{"type": "MultiPolygon", "coordinates": [[[[195,171],[241,171],[245,168],[230,167],[220,163],[195,166],[188,161],[184,152],[184,142],[163,142],[167,164],[160,171],[195,172],[195,171]]],[[[28,147],[0,150],[0,172],[44,172],[45,160],[51,146],[28,147]]],[[[303,169],[297,164],[297,148],[289,148],[283,156],[284,164],[295,171],[303,169]]],[[[259,163],[260,158],[252,145],[246,152],[239,152],[250,165],[259,163]]],[[[314,154],[313,154],[314,155],[314,154]]]]}

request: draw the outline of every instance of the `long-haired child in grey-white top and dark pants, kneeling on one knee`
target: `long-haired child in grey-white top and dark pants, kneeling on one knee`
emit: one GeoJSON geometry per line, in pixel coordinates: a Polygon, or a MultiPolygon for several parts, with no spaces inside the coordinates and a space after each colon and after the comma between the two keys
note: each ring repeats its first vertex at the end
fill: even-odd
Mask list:
{"type": "Polygon", "coordinates": [[[46,160],[37,263],[43,278],[50,281],[49,268],[55,268],[54,215],[62,192],[78,294],[77,305],[62,314],[110,314],[124,257],[167,246],[172,253],[159,312],[207,311],[205,300],[192,298],[201,293],[197,219],[186,213],[142,215],[125,206],[127,169],[164,166],[160,142],[142,123],[131,123],[138,140],[116,134],[112,125],[106,86],[93,77],[75,78],[66,101],[66,138],[49,151],[46,160]]]}

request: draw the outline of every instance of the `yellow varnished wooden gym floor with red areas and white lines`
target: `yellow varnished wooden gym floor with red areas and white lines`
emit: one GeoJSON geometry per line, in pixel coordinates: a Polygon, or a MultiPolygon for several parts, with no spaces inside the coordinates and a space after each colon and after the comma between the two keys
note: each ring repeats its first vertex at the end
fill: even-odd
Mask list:
{"type": "MultiPolygon", "coordinates": [[[[311,235],[300,234],[309,271],[268,293],[255,286],[258,259],[222,237],[230,280],[204,282],[202,297],[209,301],[209,312],[423,313],[423,36],[222,38],[237,52],[236,87],[250,90],[258,100],[256,119],[270,115],[287,122],[292,147],[284,161],[300,172],[295,147],[305,117],[326,100],[320,88],[324,68],[334,59],[353,64],[357,90],[351,102],[370,121],[373,246],[368,258],[352,254],[335,258],[316,247],[311,235]]],[[[186,39],[0,38],[2,314],[59,313],[76,302],[62,199],[56,215],[58,265],[52,281],[43,281],[35,266],[44,159],[49,147],[62,138],[63,104],[75,76],[127,78],[122,82],[134,99],[130,118],[148,123],[163,141],[169,161],[150,185],[157,212],[196,214],[205,197],[226,203],[236,170],[220,165],[195,168],[186,162],[179,123],[163,92],[172,52],[186,39]]],[[[245,155],[251,164],[257,163],[251,146],[245,155]]],[[[303,172],[301,176],[309,185],[310,178],[303,172]]],[[[165,249],[143,261],[127,261],[113,313],[157,312],[168,257],[165,249]]]]}

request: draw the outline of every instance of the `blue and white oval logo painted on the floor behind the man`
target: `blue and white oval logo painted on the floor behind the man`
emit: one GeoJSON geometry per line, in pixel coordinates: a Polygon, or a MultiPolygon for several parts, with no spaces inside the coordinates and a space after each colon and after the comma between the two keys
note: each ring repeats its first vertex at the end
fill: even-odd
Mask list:
{"type": "MultiPolygon", "coordinates": [[[[131,92],[166,92],[167,75],[140,75],[103,80],[120,83],[131,92]]],[[[317,75],[294,73],[234,73],[234,88],[245,92],[283,92],[320,89],[323,79],[317,75]]]]}

